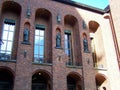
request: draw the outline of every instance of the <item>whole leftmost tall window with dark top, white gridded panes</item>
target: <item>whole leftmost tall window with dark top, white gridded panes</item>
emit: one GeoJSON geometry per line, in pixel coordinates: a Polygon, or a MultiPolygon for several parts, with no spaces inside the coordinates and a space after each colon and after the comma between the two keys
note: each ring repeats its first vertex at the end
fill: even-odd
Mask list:
{"type": "Polygon", "coordinates": [[[3,25],[1,46],[0,46],[0,59],[10,60],[13,48],[15,32],[15,20],[5,19],[3,25]]]}

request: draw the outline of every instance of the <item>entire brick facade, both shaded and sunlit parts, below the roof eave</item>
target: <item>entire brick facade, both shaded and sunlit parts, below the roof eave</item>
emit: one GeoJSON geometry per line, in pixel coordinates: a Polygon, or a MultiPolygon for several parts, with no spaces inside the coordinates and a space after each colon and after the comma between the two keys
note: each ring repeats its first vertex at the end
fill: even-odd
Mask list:
{"type": "MultiPolygon", "coordinates": [[[[103,87],[112,90],[106,69],[107,57],[104,54],[107,50],[104,49],[106,39],[103,34],[106,29],[104,27],[106,24],[103,23],[107,22],[108,26],[110,24],[104,18],[102,11],[88,7],[79,8],[56,0],[0,0],[1,38],[6,18],[15,20],[16,26],[12,58],[0,60],[0,73],[6,70],[5,73],[13,75],[13,90],[32,90],[33,87],[33,90],[38,90],[39,86],[42,90],[69,90],[74,85],[75,90],[96,90],[96,88],[102,90],[103,87]],[[30,16],[26,14],[28,9],[30,16]],[[60,22],[57,22],[58,15],[60,15],[60,22]],[[100,27],[96,26],[95,21],[100,27]],[[83,24],[86,26],[83,27],[83,24]],[[34,60],[36,25],[45,26],[45,50],[42,63],[36,63],[34,60]],[[29,43],[23,43],[25,28],[29,29],[29,43]],[[59,48],[56,47],[57,30],[61,34],[59,48]],[[72,64],[68,64],[69,57],[65,53],[65,30],[71,32],[72,64]],[[91,32],[95,34],[97,65],[103,65],[102,69],[94,66],[92,41],[89,37],[91,32]],[[84,36],[88,42],[88,52],[84,51],[84,36]],[[70,86],[71,84],[73,86],[70,86]]],[[[111,35],[111,32],[106,35],[111,35]]]]}

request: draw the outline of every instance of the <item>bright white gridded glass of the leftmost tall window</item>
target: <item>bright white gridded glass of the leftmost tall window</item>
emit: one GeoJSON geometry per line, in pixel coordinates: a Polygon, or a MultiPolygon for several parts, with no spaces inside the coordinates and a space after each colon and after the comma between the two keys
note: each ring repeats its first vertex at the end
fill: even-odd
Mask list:
{"type": "Polygon", "coordinates": [[[3,43],[0,47],[0,53],[6,53],[6,59],[10,59],[11,57],[14,29],[15,25],[11,25],[9,22],[7,24],[4,23],[2,34],[3,43]]]}

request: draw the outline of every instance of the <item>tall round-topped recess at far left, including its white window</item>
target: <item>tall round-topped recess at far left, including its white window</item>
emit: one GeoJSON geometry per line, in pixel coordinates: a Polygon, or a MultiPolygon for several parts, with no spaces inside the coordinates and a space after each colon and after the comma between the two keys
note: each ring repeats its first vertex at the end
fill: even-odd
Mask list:
{"type": "Polygon", "coordinates": [[[2,4],[0,20],[0,59],[16,60],[21,6],[14,1],[6,1],[2,4]]]}

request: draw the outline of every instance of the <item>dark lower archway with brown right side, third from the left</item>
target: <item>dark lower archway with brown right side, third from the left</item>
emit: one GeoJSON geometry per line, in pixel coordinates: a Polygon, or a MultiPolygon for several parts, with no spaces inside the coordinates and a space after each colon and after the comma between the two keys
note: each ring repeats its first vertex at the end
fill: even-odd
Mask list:
{"type": "Polygon", "coordinates": [[[70,73],[67,76],[67,90],[82,90],[81,77],[76,73],[70,73]]]}

